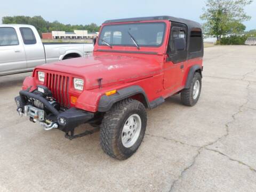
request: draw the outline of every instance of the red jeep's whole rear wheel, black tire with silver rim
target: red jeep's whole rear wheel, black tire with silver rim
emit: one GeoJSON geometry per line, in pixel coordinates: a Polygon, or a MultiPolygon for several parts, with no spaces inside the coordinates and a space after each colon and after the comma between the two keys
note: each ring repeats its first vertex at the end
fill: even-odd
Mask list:
{"type": "Polygon", "coordinates": [[[202,77],[199,73],[195,73],[189,89],[181,91],[181,102],[186,106],[196,105],[202,87],[202,77]]]}

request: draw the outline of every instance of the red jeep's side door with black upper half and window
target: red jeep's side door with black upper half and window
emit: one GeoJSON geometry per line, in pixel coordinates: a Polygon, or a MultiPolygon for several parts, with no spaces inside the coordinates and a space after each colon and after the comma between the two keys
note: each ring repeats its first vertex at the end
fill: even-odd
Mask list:
{"type": "Polygon", "coordinates": [[[176,51],[174,49],[175,38],[185,38],[187,42],[186,25],[175,22],[171,23],[167,58],[164,63],[164,89],[169,89],[171,92],[180,91],[182,89],[184,67],[187,63],[187,48],[182,51],[176,51]]]}

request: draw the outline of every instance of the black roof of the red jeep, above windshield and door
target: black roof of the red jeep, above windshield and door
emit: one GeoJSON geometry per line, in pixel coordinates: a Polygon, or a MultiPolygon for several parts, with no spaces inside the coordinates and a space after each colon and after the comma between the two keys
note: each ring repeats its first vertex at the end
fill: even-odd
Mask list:
{"type": "Polygon", "coordinates": [[[103,22],[103,24],[106,23],[119,23],[119,22],[136,22],[136,21],[157,21],[157,20],[169,20],[179,23],[184,23],[188,26],[188,29],[191,28],[200,28],[201,25],[198,22],[182,19],[182,18],[175,18],[171,16],[154,16],[154,17],[139,17],[139,18],[127,18],[127,19],[113,19],[113,20],[107,20],[103,22]]]}

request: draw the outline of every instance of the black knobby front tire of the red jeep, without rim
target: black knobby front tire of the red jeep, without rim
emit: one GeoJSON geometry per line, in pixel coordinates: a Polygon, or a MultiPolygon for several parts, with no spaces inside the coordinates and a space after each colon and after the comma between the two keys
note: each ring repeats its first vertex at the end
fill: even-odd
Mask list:
{"type": "Polygon", "coordinates": [[[100,144],[110,157],[124,160],[132,156],[139,148],[147,126],[147,113],[143,104],[137,100],[125,99],[111,107],[100,125],[100,144]],[[122,143],[122,130],[126,120],[133,114],[141,118],[139,138],[130,148],[122,143]]]}

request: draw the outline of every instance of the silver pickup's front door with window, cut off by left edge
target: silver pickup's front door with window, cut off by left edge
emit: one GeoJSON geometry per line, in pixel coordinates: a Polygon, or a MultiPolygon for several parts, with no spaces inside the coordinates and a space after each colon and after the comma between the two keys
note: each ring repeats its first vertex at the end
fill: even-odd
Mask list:
{"type": "Polygon", "coordinates": [[[0,75],[26,68],[25,51],[15,29],[0,27],[0,75]]]}

